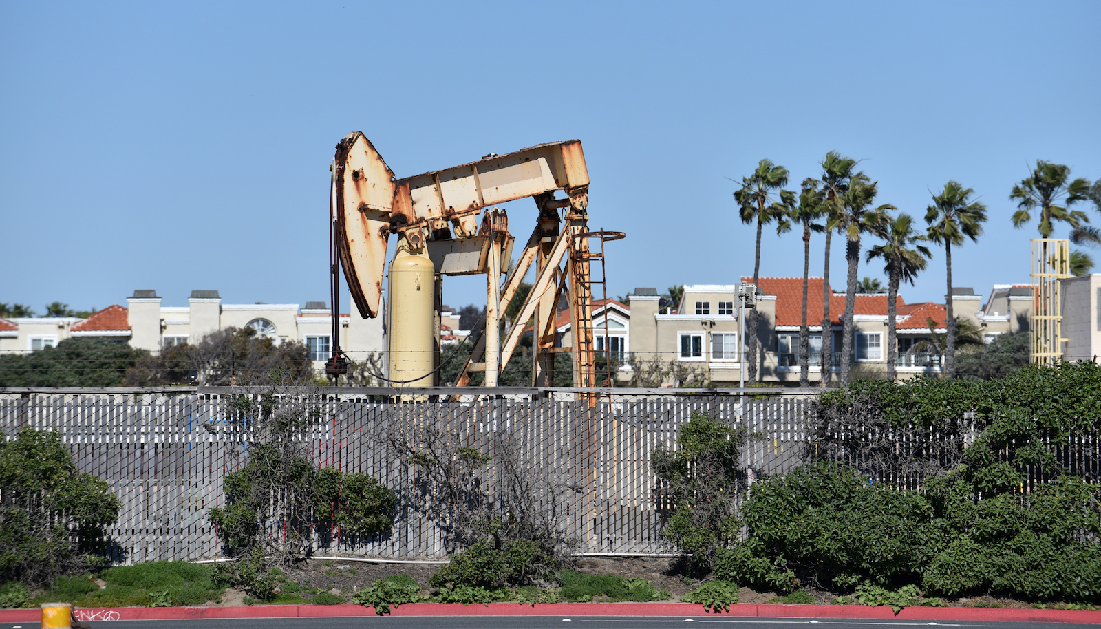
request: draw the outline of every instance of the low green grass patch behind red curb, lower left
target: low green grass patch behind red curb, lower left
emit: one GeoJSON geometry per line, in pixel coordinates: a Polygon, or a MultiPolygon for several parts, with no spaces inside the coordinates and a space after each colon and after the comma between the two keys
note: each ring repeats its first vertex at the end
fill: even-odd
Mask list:
{"type": "Polygon", "coordinates": [[[218,600],[225,588],[211,578],[209,566],[188,562],[150,562],[103,571],[100,589],[91,575],[57,579],[32,601],[72,603],[80,607],[164,607],[218,600]]]}

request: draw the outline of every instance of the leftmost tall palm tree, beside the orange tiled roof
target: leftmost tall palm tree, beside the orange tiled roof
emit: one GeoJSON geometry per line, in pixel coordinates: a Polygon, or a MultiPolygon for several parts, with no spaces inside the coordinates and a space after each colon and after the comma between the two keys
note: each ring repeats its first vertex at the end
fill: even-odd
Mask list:
{"type": "MultiPolygon", "coordinates": [[[[742,187],[734,192],[742,223],[757,224],[756,258],[753,261],[753,284],[756,285],[761,275],[761,229],[773,219],[783,217],[787,209],[795,205],[795,194],[781,189],[787,185],[787,169],[772,163],[772,160],[761,160],[757,167],[748,177],[742,177],[742,187]],[[778,196],[778,198],[777,198],[778,196]]],[[[749,329],[749,379],[756,381],[756,346],[757,346],[757,312],[756,306],[750,311],[749,329]]],[[[744,346],[743,346],[744,347],[744,346]]]]}

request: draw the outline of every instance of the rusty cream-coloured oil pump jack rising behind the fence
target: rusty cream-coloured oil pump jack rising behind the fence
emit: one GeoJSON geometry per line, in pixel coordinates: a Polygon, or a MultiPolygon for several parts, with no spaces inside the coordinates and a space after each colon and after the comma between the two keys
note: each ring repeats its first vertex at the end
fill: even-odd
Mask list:
{"type": "MultiPolygon", "coordinates": [[[[468,386],[471,373],[478,371],[484,373],[483,386],[498,386],[530,319],[535,324],[535,386],[553,386],[554,355],[558,351],[573,354],[575,387],[611,386],[610,361],[604,361],[600,373],[597,368],[598,350],[609,345],[607,326],[598,330],[593,325],[592,290],[600,285],[607,291],[604,242],[624,235],[589,229],[589,173],[580,141],[539,144],[505,155],[491,153],[476,162],[397,178],[367,137],[357,131],[337,144],[331,170],[334,312],[339,312],[342,267],[360,315],[373,318],[381,314],[386,248],[390,237],[397,237],[386,308],[390,384],[439,383],[443,276],[486,274],[484,332],[466,358],[457,386],[468,386]],[[557,197],[558,191],[565,196],[557,197]],[[512,259],[514,237],[509,232],[505,210],[493,206],[524,197],[535,200],[535,227],[502,282],[502,263],[506,265],[512,259]],[[535,281],[515,325],[502,340],[501,315],[516,297],[532,264],[535,281]],[[595,270],[599,271],[597,279],[595,270]],[[560,301],[569,307],[571,347],[555,347],[560,301]],[[596,334],[604,335],[600,347],[596,334]]],[[[336,325],[334,317],[333,355],[326,364],[329,376],[346,373],[348,368],[336,325]]]]}

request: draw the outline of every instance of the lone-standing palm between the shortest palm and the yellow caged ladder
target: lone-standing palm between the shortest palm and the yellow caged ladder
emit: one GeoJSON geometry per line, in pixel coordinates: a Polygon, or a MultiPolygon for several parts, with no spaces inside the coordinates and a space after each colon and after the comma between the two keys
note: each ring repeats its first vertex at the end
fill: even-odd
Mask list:
{"type": "Polygon", "coordinates": [[[963,238],[979,240],[982,224],[986,221],[986,206],[971,200],[974,191],[950,181],[945,189],[933,197],[933,205],[925,210],[929,224],[929,240],[945,246],[945,265],[948,271],[948,292],[945,296],[947,329],[945,330],[945,378],[952,377],[952,357],[956,355],[956,317],[952,314],[952,245],[963,245],[963,238]]]}

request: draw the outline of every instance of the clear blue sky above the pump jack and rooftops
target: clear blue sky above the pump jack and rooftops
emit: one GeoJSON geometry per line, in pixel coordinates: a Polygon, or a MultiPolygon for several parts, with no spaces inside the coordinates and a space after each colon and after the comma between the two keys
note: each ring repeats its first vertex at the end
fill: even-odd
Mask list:
{"type": "MultiPolygon", "coordinates": [[[[1009,193],[1029,165],[1101,177],[1099,24],[1095,0],[4,2],[0,302],[327,299],[328,164],[355,130],[399,176],[580,139],[592,225],[628,234],[611,295],[751,274],[727,177],[762,158],[796,188],[829,150],[862,159],[918,218],[956,178],[990,220],[955,283],[989,292],[1028,281],[1009,193]]],[[[522,241],[534,204],[509,209],[522,241]]],[[[762,274],[802,272],[799,236],[766,231],[762,274]]],[[[444,301],[483,286],[448,279],[444,301]]],[[[902,291],[944,293],[942,253],[902,291]]]]}

